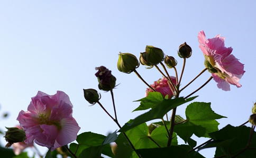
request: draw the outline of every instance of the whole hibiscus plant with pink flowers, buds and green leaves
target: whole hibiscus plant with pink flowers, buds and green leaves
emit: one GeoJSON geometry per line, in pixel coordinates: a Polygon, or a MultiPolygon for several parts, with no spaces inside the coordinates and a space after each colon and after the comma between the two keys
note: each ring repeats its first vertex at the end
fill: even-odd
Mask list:
{"type": "MultiPolygon", "coordinates": [[[[216,148],[212,157],[256,157],[256,104],[249,121],[245,120],[240,126],[226,125],[219,130],[216,120],[225,116],[216,114],[211,103],[192,102],[197,97],[195,93],[212,79],[224,91],[230,91],[230,85],[241,87],[239,81],[245,72],[244,65],[231,54],[231,47],[225,47],[224,40],[220,35],[206,40],[204,31],[199,32],[198,42],[205,57],[206,68],[185,86],[181,86],[182,75],[186,60],[192,55],[192,49],[186,42],[178,50],[178,56],[184,61],[180,73],[176,70],[175,57],[165,55],[160,48],[146,46],[139,60],[131,53],[120,52],[118,70],[127,74],[134,72],[148,86],[145,97],[136,101],[140,105],[134,110],[147,112],[124,125],[117,120],[113,93],[117,86],[116,78],[105,66],[96,67],[98,88],[111,93],[114,115],[104,108],[97,90],[84,89],[84,97],[90,104],[100,106],[106,116],[119,127],[107,136],[92,132],[77,135],[80,127],[72,116],[73,105],[68,95],[61,91],[54,95],[39,91],[32,97],[28,111],[22,110],[17,116],[20,126],[7,128],[6,147],[13,146],[14,153],[22,155],[25,147],[33,147],[35,143],[48,147],[49,151],[45,153],[47,158],[57,155],[79,158],[204,157],[200,150],[210,147],[216,148]],[[161,78],[151,85],[148,84],[136,71],[140,64],[147,68],[156,67],[161,78]],[[168,68],[173,70],[173,75],[169,75],[168,68]],[[206,71],[211,73],[209,79],[189,95],[182,96],[182,91],[206,71]],[[181,117],[176,114],[176,110],[185,103],[189,104],[185,111],[186,117],[181,117]],[[171,112],[170,117],[168,112],[171,112]],[[149,121],[151,123],[146,124],[149,121]],[[245,126],[249,122],[251,127],[245,126]],[[206,137],[208,141],[197,144],[191,138],[192,135],[206,137]],[[178,144],[177,137],[185,143],[178,144]]],[[[3,153],[8,152],[10,150],[3,150],[3,153]]]]}

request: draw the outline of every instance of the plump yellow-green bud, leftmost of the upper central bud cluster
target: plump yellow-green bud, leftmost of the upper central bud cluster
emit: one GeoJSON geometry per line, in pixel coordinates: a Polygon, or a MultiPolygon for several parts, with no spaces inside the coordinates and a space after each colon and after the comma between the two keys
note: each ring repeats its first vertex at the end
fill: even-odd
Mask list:
{"type": "Polygon", "coordinates": [[[119,53],[120,54],[118,54],[119,58],[117,62],[117,68],[120,72],[130,74],[135,70],[135,68],[139,67],[139,61],[135,55],[131,53],[119,53]]]}

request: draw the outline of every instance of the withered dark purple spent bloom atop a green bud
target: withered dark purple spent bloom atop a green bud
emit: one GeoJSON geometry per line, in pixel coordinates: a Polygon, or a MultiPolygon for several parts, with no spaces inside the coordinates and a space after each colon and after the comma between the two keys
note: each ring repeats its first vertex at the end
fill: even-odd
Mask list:
{"type": "Polygon", "coordinates": [[[98,72],[95,74],[98,77],[98,87],[99,90],[110,91],[115,87],[116,78],[111,74],[105,66],[95,67],[98,72]]]}

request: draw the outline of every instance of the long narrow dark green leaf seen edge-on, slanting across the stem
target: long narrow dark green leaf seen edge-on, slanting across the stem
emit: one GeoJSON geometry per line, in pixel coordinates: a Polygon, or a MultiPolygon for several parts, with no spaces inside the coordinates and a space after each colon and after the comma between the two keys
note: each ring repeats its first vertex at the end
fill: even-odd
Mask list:
{"type": "Polygon", "coordinates": [[[150,110],[147,113],[144,113],[136,118],[134,118],[134,120],[130,121],[129,123],[126,123],[120,130],[119,132],[125,132],[128,131],[130,129],[132,129],[135,126],[138,126],[142,123],[157,119],[157,118],[162,118],[166,113],[168,113],[170,110],[172,110],[173,108],[187,103],[191,100],[193,100],[196,97],[190,97],[187,100],[185,100],[183,97],[179,97],[179,98],[174,98],[174,99],[170,99],[170,100],[162,100],[161,103],[159,103],[156,107],[152,108],[152,110],[150,110]]]}

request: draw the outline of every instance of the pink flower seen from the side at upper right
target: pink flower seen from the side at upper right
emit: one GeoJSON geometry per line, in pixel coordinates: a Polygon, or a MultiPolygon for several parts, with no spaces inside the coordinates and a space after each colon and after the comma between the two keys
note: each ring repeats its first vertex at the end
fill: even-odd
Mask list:
{"type": "Polygon", "coordinates": [[[230,84],[241,87],[239,80],[245,72],[244,64],[231,54],[232,47],[225,47],[225,37],[216,35],[214,38],[206,40],[204,31],[200,31],[197,37],[199,47],[205,56],[205,66],[218,83],[218,88],[230,91],[230,84]]]}

